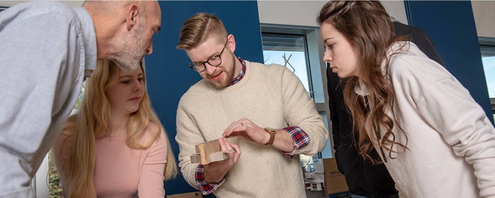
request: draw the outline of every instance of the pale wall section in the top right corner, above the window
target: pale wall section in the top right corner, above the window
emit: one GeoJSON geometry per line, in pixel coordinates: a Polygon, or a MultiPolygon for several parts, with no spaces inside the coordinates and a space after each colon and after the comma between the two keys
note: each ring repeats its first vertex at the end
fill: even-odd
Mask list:
{"type": "MultiPolygon", "coordinates": [[[[471,1],[479,37],[495,38],[495,1],[471,1]]],[[[460,27],[459,27],[460,28],[460,27]]]]}

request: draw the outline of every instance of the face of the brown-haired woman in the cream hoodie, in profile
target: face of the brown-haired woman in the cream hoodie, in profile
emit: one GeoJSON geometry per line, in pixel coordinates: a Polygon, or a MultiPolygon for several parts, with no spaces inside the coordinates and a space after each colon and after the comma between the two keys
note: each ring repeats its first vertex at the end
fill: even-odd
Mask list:
{"type": "Polygon", "coordinates": [[[341,78],[356,76],[357,56],[350,42],[329,23],[321,24],[320,31],[325,44],[323,61],[328,62],[332,72],[341,78]]]}

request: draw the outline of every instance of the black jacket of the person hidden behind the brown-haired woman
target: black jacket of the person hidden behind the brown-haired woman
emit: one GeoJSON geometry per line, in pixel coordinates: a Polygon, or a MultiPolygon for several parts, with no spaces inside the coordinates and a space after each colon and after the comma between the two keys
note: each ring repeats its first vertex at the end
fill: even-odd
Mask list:
{"type": "MultiPolygon", "coordinates": [[[[394,26],[397,36],[409,36],[410,41],[415,43],[428,57],[444,65],[430,38],[421,29],[398,22],[394,22],[394,26]]],[[[359,155],[355,145],[358,137],[357,134],[355,136],[352,134],[352,118],[343,97],[345,83],[328,67],[327,83],[335,159],[339,171],[346,177],[349,191],[371,198],[386,198],[397,194],[394,180],[390,177],[385,165],[372,165],[359,155]]],[[[379,159],[375,149],[370,155],[379,159]]]]}

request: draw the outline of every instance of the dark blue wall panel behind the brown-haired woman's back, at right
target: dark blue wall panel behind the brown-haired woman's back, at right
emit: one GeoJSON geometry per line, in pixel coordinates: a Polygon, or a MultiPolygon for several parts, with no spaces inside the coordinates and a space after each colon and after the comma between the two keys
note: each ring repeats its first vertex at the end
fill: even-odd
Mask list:
{"type": "MultiPolygon", "coordinates": [[[[409,25],[433,40],[446,68],[494,123],[470,1],[404,1],[409,25]]],[[[462,112],[459,112],[462,113],[462,112]]]]}

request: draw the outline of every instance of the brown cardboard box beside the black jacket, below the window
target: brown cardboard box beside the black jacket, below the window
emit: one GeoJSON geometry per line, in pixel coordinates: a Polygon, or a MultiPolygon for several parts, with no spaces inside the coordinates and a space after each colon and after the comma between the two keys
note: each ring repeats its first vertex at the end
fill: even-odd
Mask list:
{"type": "Polygon", "coordinates": [[[347,192],[346,178],[337,168],[335,158],[323,159],[323,167],[325,169],[325,192],[327,195],[347,192]]]}

